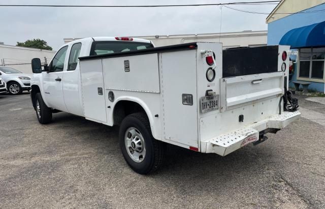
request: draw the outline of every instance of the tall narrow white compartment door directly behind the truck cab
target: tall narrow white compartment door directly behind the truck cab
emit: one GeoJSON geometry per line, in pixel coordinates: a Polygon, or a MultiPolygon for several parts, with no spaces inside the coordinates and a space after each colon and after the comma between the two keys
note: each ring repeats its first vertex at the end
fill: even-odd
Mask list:
{"type": "Polygon", "coordinates": [[[102,59],[80,61],[80,73],[85,117],[106,123],[102,59]]]}

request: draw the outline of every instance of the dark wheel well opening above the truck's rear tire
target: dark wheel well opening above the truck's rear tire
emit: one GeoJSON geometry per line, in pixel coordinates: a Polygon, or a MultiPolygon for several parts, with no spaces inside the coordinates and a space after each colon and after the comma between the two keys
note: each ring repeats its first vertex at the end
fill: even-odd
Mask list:
{"type": "Polygon", "coordinates": [[[137,102],[127,101],[127,100],[122,100],[117,102],[114,106],[114,111],[113,111],[114,125],[120,125],[124,117],[136,112],[143,112],[146,114],[146,111],[137,102]]]}

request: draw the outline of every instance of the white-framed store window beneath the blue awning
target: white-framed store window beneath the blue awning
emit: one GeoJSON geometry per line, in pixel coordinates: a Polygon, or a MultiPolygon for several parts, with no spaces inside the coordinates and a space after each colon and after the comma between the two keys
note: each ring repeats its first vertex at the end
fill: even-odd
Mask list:
{"type": "Polygon", "coordinates": [[[299,77],[324,79],[325,48],[300,49],[299,77]]]}

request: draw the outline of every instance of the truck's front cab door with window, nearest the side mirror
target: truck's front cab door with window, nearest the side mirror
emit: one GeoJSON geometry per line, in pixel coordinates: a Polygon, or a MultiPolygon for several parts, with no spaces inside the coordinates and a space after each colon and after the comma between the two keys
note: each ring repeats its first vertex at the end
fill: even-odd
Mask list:
{"type": "Polygon", "coordinates": [[[63,99],[63,69],[68,46],[62,47],[50,63],[50,72],[43,73],[44,98],[49,107],[68,111],[63,99]]]}

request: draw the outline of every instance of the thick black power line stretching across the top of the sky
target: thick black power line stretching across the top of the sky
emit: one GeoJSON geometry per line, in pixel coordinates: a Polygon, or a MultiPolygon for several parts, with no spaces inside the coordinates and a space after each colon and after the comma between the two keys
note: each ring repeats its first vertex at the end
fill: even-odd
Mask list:
{"type": "Polygon", "coordinates": [[[279,3],[280,1],[259,2],[231,2],[219,4],[190,4],[190,5],[0,5],[0,7],[196,7],[196,6],[221,6],[221,5],[248,5],[279,3]]]}

